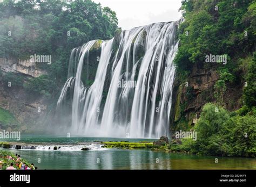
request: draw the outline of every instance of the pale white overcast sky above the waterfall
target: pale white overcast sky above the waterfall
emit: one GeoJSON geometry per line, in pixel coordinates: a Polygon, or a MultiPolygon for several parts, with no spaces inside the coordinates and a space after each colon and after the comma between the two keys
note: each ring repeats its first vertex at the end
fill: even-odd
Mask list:
{"type": "Polygon", "coordinates": [[[117,12],[123,30],[156,22],[177,21],[181,0],[92,0],[117,12]]]}

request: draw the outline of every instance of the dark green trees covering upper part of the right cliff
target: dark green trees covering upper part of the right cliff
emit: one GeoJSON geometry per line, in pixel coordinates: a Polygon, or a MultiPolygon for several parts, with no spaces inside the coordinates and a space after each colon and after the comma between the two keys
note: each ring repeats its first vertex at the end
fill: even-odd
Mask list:
{"type": "Polygon", "coordinates": [[[201,69],[217,69],[214,100],[224,105],[227,89],[244,88],[244,104],[256,105],[255,87],[255,1],[184,1],[184,22],[179,28],[180,46],[174,63],[185,81],[194,64],[201,69]],[[226,63],[207,63],[206,56],[226,56],[226,63]]]}

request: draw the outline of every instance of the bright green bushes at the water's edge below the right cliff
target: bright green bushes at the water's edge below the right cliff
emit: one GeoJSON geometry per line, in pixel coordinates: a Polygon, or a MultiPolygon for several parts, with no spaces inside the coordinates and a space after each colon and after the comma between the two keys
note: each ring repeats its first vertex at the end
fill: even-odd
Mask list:
{"type": "Polygon", "coordinates": [[[223,107],[208,103],[193,127],[197,140],[172,141],[168,149],[216,156],[256,156],[256,109],[239,116],[223,107]]]}

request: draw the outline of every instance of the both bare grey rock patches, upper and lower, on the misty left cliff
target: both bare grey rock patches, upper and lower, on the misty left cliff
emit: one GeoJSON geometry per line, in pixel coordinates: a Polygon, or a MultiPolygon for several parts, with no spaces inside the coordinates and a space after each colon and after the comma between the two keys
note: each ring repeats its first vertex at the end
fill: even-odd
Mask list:
{"type": "MultiPolygon", "coordinates": [[[[29,77],[38,77],[46,74],[44,70],[37,68],[36,64],[29,60],[0,59],[0,70],[2,71],[2,76],[12,72],[15,73],[14,76],[17,75],[17,79],[22,77],[24,81],[29,77]]],[[[43,117],[48,104],[49,100],[26,91],[22,85],[8,87],[6,82],[1,81],[0,77],[0,108],[15,118],[15,123],[14,121],[4,123],[0,120],[0,130],[18,130],[22,132],[39,130],[43,124],[43,117]]]]}

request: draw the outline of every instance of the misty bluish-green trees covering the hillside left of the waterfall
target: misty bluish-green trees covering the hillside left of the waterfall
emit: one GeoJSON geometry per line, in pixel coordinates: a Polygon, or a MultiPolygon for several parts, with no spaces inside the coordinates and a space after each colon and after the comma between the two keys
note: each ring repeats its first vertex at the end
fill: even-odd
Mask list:
{"type": "MultiPolygon", "coordinates": [[[[71,50],[90,40],[111,39],[117,24],[116,12],[91,0],[1,1],[0,58],[11,65],[11,62],[30,60],[34,55],[51,56],[51,63],[38,62],[36,67],[32,64],[31,70],[40,69],[47,73],[39,77],[6,73],[1,70],[5,64],[0,67],[0,86],[3,85],[0,92],[2,95],[10,93],[10,97],[3,97],[1,106],[10,106],[9,111],[20,123],[35,125],[36,120],[32,118],[38,119],[39,114],[50,113],[56,107],[68,75],[71,50]],[[17,105],[11,105],[8,99],[17,100],[17,105]],[[32,107],[26,107],[28,105],[24,103],[32,107]],[[39,105],[47,106],[46,110],[37,112],[39,105]]],[[[1,117],[4,116],[0,113],[1,117]]]]}

